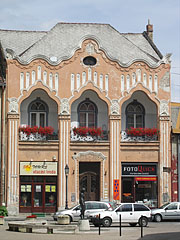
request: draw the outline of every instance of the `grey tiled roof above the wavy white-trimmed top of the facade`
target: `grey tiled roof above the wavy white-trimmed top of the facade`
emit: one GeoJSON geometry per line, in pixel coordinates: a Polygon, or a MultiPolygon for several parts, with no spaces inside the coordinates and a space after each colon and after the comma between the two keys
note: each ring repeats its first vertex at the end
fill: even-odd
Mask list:
{"type": "Polygon", "coordinates": [[[86,38],[95,39],[107,56],[121,65],[143,60],[155,65],[161,56],[143,33],[122,34],[109,24],[58,23],[49,32],[0,30],[2,46],[15,52],[22,62],[41,56],[57,58],[57,63],[70,58],[86,38]]]}

